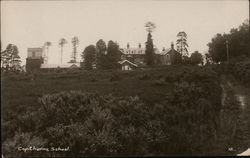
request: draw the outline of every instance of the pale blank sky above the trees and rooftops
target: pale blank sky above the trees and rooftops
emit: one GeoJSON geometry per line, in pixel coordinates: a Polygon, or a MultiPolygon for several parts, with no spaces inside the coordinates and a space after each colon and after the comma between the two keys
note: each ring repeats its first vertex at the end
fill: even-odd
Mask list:
{"type": "MultiPolygon", "coordinates": [[[[106,43],[116,41],[120,48],[145,47],[145,23],[152,21],[156,48],[169,48],[176,43],[176,35],[185,31],[188,50],[205,53],[207,43],[217,33],[228,33],[249,19],[248,0],[54,0],[54,1],[1,1],[1,42],[17,45],[22,65],[27,48],[49,48],[49,64],[60,63],[60,38],[64,46],[63,62],[70,60],[71,39],[79,38],[80,53],[99,39],[106,43]]],[[[175,46],[176,47],[176,46],[175,46]]]]}

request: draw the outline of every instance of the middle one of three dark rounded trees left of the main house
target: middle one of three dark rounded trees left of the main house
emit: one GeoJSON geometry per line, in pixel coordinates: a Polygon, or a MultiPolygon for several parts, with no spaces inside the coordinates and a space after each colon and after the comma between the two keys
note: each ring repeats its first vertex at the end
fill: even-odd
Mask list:
{"type": "Polygon", "coordinates": [[[105,52],[107,50],[106,43],[100,39],[96,43],[96,68],[97,69],[105,69],[106,65],[106,56],[105,52]]]}

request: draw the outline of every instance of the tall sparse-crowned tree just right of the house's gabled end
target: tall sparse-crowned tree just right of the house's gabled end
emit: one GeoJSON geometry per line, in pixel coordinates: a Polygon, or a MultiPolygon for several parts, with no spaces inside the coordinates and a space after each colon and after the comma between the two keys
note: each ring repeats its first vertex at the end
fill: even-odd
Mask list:
{"type": "Polygon", "coordinates": [[[177,34],[176,46],[177,51],[180,52],[182,56],[188,56],[187,34],[184,31],[177,34]]]}

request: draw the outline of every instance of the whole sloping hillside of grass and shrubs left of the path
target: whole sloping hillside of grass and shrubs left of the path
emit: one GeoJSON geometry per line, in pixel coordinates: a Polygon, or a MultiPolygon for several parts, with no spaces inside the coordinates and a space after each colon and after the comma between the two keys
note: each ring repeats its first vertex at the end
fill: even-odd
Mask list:
{"type": "Polygon", "coordinates": [[[29,142],[70,147],[55,156],[214,154],[221,87],[210,68],[8,74],[3,90],[9,156],[31,155],[12,150],[29,142]]]}

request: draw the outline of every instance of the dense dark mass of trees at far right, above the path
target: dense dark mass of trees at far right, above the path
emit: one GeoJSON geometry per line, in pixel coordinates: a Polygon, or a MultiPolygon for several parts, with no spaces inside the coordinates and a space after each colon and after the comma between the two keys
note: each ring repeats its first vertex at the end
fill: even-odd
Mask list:
{"type": "Polygon", "coordinates": [[[208,47],[206,57],[215,63],[240,56],[250,57],[249,20],[245,20],[238,28],[232,28],[229,33],[217,33],[208,47]]]}

